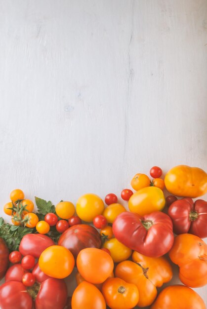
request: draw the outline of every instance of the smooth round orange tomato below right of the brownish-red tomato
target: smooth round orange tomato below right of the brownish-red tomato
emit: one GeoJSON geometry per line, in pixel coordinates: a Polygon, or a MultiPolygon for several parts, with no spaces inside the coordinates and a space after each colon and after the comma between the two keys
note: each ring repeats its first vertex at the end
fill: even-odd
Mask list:
{"type": "Polygon", "coordinates": [[[111,256],[97,248],[81,250],[76,263],[82,277],[94,284],[104,282],[114,269],[114,262],[111,256]]]}

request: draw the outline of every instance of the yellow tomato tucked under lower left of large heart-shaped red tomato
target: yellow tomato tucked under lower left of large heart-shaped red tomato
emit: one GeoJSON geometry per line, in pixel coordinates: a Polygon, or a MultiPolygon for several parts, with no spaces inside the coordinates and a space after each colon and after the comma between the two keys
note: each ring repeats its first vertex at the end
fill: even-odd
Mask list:
{"type": "Polygon", "coordinates": [[[132,253],[132,250],[124,246],[117,238],[111,238],[105,241],[103,247],[109,249],[112,260],[115,263],[127,260],[132,253]]]}

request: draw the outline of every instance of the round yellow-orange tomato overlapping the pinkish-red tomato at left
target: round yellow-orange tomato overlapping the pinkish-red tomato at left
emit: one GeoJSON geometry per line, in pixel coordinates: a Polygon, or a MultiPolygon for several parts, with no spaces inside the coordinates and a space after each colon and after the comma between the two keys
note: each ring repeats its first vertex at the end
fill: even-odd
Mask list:
{"type": "Polygon", "coordinates": [[[73,254],[63,246],[46,248],[39,259],[40,269],[50,277],[66,278],[73,271],[75,259],[73,254]]]}

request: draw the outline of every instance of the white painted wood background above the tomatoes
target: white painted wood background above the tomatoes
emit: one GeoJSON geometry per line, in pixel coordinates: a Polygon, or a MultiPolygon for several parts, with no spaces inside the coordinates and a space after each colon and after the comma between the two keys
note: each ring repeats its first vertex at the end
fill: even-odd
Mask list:
{"type": "Polygon", "coordinates": [[[207,170],[206,0],[0,0],[1,206],[180,163],[207,170]]]}

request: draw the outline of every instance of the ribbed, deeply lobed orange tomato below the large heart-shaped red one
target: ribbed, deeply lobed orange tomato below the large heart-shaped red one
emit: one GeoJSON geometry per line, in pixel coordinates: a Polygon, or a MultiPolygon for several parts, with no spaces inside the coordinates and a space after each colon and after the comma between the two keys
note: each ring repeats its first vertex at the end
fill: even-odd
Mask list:
{"type": "Polygon", "coordinates": [[[157,287],[171,280],[171,265],[164,257],[149,258],[136,251],[132,260],[118,264],[115,276],[136,285],[139,291],[137,306],[150,306],[156,299],[157,287]]]}

